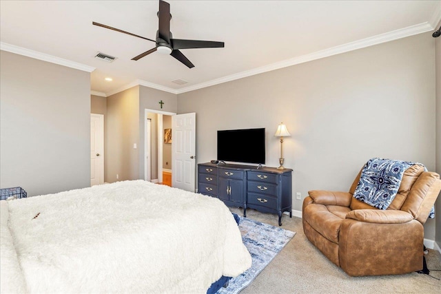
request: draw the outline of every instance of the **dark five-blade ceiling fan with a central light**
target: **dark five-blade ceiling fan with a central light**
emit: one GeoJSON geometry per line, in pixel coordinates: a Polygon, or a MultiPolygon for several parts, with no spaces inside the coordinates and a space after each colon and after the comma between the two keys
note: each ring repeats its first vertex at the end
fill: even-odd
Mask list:
{"type": "Polygon", "coordinates": [[[193,63],[191,63],[187,59],[187,57],[185,57],[184,54],[182,54],[182,52],[179,51],[179,49],[224,47],[223,42],[173,39],[172,32],[170,32],[170,19],[172,19],[172,14],[170,14],[170,4],[163,0],[159,0],[158,18],[159,18],[159,28],[156,31],[156,41],[145,38],[143,36],[139,36],[137,34],[132,34],[131,32],[125,32],[117,28],[112,28],[108,25],[96,23],[94,21],[92,21],[92,25],[98,25],[103,28],[115,30],[116,32],[122,32],[124,34],[130,34],[130,36],[137,36],[141,39],[145,39],[156,43],[155,48],[152,48],[132,58],[132,60],[134,61],[137,61],[143,58],[144,56],[147,56],[150,53],[158,51],[163,54],[170,54],[175,59],[178,59],[178,61],[181,61],[181,63],[187,65],[187,67],[192,68],[194,67],[193,63]]]}

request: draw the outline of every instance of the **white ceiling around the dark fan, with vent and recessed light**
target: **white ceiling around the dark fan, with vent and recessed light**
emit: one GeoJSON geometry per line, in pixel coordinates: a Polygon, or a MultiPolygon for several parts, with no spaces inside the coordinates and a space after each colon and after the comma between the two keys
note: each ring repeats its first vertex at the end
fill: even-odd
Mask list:
{"type": "Polygon", "coordinates": [[[174,38],[224,41],[225,48],[181,50],[192,69],[158,52],[132,61],[154,43],[92,25],[155,39],[155,0],[1,1],[1,49],[96,68],[94,92],[109,95],[139,83],[179,93],[427,32],[441,19],[438,0],[168,2],[174,38]],[[106,63],[94,59],[96,52],[118,59],[106,63]]]}

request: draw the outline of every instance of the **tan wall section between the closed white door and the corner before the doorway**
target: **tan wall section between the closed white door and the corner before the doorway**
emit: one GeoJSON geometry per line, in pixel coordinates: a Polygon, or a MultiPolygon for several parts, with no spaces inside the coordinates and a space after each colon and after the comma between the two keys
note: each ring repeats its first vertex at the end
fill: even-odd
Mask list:
{"type": "Polygon", "coordinates": [[[139,86],[107,97],[104,136],[104,181],[139,179],[139,86]]]}

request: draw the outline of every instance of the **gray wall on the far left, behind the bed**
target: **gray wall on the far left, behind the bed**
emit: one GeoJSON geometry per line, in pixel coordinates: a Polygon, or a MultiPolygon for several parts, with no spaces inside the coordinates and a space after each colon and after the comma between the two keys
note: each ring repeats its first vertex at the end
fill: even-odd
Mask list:
{"type": "Polygon", "coordinates": [[[0,187],[90,187],[90,73],[1,51],[0,187]]]}

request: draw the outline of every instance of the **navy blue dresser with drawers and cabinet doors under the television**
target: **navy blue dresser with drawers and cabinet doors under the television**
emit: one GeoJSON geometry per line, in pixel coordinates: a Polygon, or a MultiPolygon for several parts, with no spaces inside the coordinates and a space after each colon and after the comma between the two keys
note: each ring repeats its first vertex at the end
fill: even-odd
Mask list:
{"type": "Polygon", "coordinates": [[[277,213],[281,226],[282,213],[292,217],[292,169],[249,165],[198,164],[198,193],[216,197],[227,206],[243,207],[265,213],[277,213]]]}

